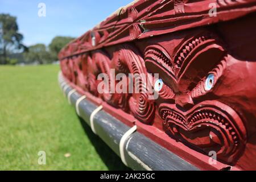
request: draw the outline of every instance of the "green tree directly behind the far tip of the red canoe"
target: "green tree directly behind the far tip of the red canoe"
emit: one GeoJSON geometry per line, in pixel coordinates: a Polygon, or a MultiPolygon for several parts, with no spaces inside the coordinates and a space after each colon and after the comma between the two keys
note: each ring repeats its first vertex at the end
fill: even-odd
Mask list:
{"type": "Polygon", "coordinates": [[[60,52],[60,49],[71,42],[73,39],[75,38],[69,36],[56,36],[52,39],[51,44],[49,44],[49,50],[51,52],[53,61],[58,60],[58,53],[60,52]]]}

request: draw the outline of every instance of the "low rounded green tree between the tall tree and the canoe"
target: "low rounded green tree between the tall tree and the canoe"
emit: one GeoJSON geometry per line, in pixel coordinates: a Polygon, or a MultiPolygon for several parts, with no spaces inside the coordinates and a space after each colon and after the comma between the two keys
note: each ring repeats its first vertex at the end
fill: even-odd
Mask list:
{"type": "Polygon", "coordinates": [[[52,57],[44,44],[35,44],[28,47],[24,57],[27,63],[38,62],[39,64],[46,64],[52,62],[52,57]]]}

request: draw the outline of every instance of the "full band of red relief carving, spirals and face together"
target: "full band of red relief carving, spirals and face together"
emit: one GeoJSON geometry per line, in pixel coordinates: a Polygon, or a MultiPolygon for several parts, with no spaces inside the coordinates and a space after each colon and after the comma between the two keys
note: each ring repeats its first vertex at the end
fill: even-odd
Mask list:
{"type": "MultiPolygon", "coordinates": [[[[157,110],[163,130],[170,137],[205,154],[216,151],[218,160],[234,163],[245,148],[246,129],[236,110],[215,96],[230,56],[219,38],[208,31],[179,41],[172,54],[159,44],[152,44],[144,48],[143,60],[137,48],[123,44],[108,52],[97,50],[65,59],[61,69],[76,85],[143,123],[151,125],[157,110]],[[129,77],[129,73],[136,76],[148,72],[159,73],[163,80],[157,100],[149,100],[154,82],[145,85],[147,77],[139,77],[138,82],[129,77]],[[110,81],[108,90],[98,93],[100,73],[108,75],[115,85],[121,80],[113,76],[123,73],[127,88],[133,83],[132,93],[110,92],[110,81]]],[[[154,77],[152,80],[159,81],[154,77]]]]}

